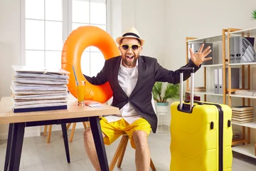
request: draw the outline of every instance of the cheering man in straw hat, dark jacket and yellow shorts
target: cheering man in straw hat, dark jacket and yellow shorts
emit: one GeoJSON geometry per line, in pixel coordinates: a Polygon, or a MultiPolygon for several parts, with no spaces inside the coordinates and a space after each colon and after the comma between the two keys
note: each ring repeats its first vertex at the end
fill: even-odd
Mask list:
{"type": "MultiPolygon", "coordinates": [[[[151,90],[156,81],[179,83],[179,70],[169,71],[162,68],[155,58],[140,56],[144,40],[137,30],[129,28],[117,38],[121,56],[105,61],[105,66],[96,77],[85,76],[92,84],[100,85],[109,81],[113,90],[112,105],[120,109],[120,115],[108,115],[100,120],[104,142],[110,145],[124,132],[129,135],[131,145],[136,150],[137,170],[149,170],[150,152],[147,137],[151,130],[156,132],[157,118],[151,103],[151,90]]],[[[203,45],[198,53],[191,52],[191,60],[186,66],[200,68],[204,58],[210,53],[210,47],[203,52],[203,45]]],[[[184,73],[184,80],[190,73],[184,73]]],[[[97,152],[90,128],[84,133],[85,150],[95,170],[100,170],[97,152]]]]}

